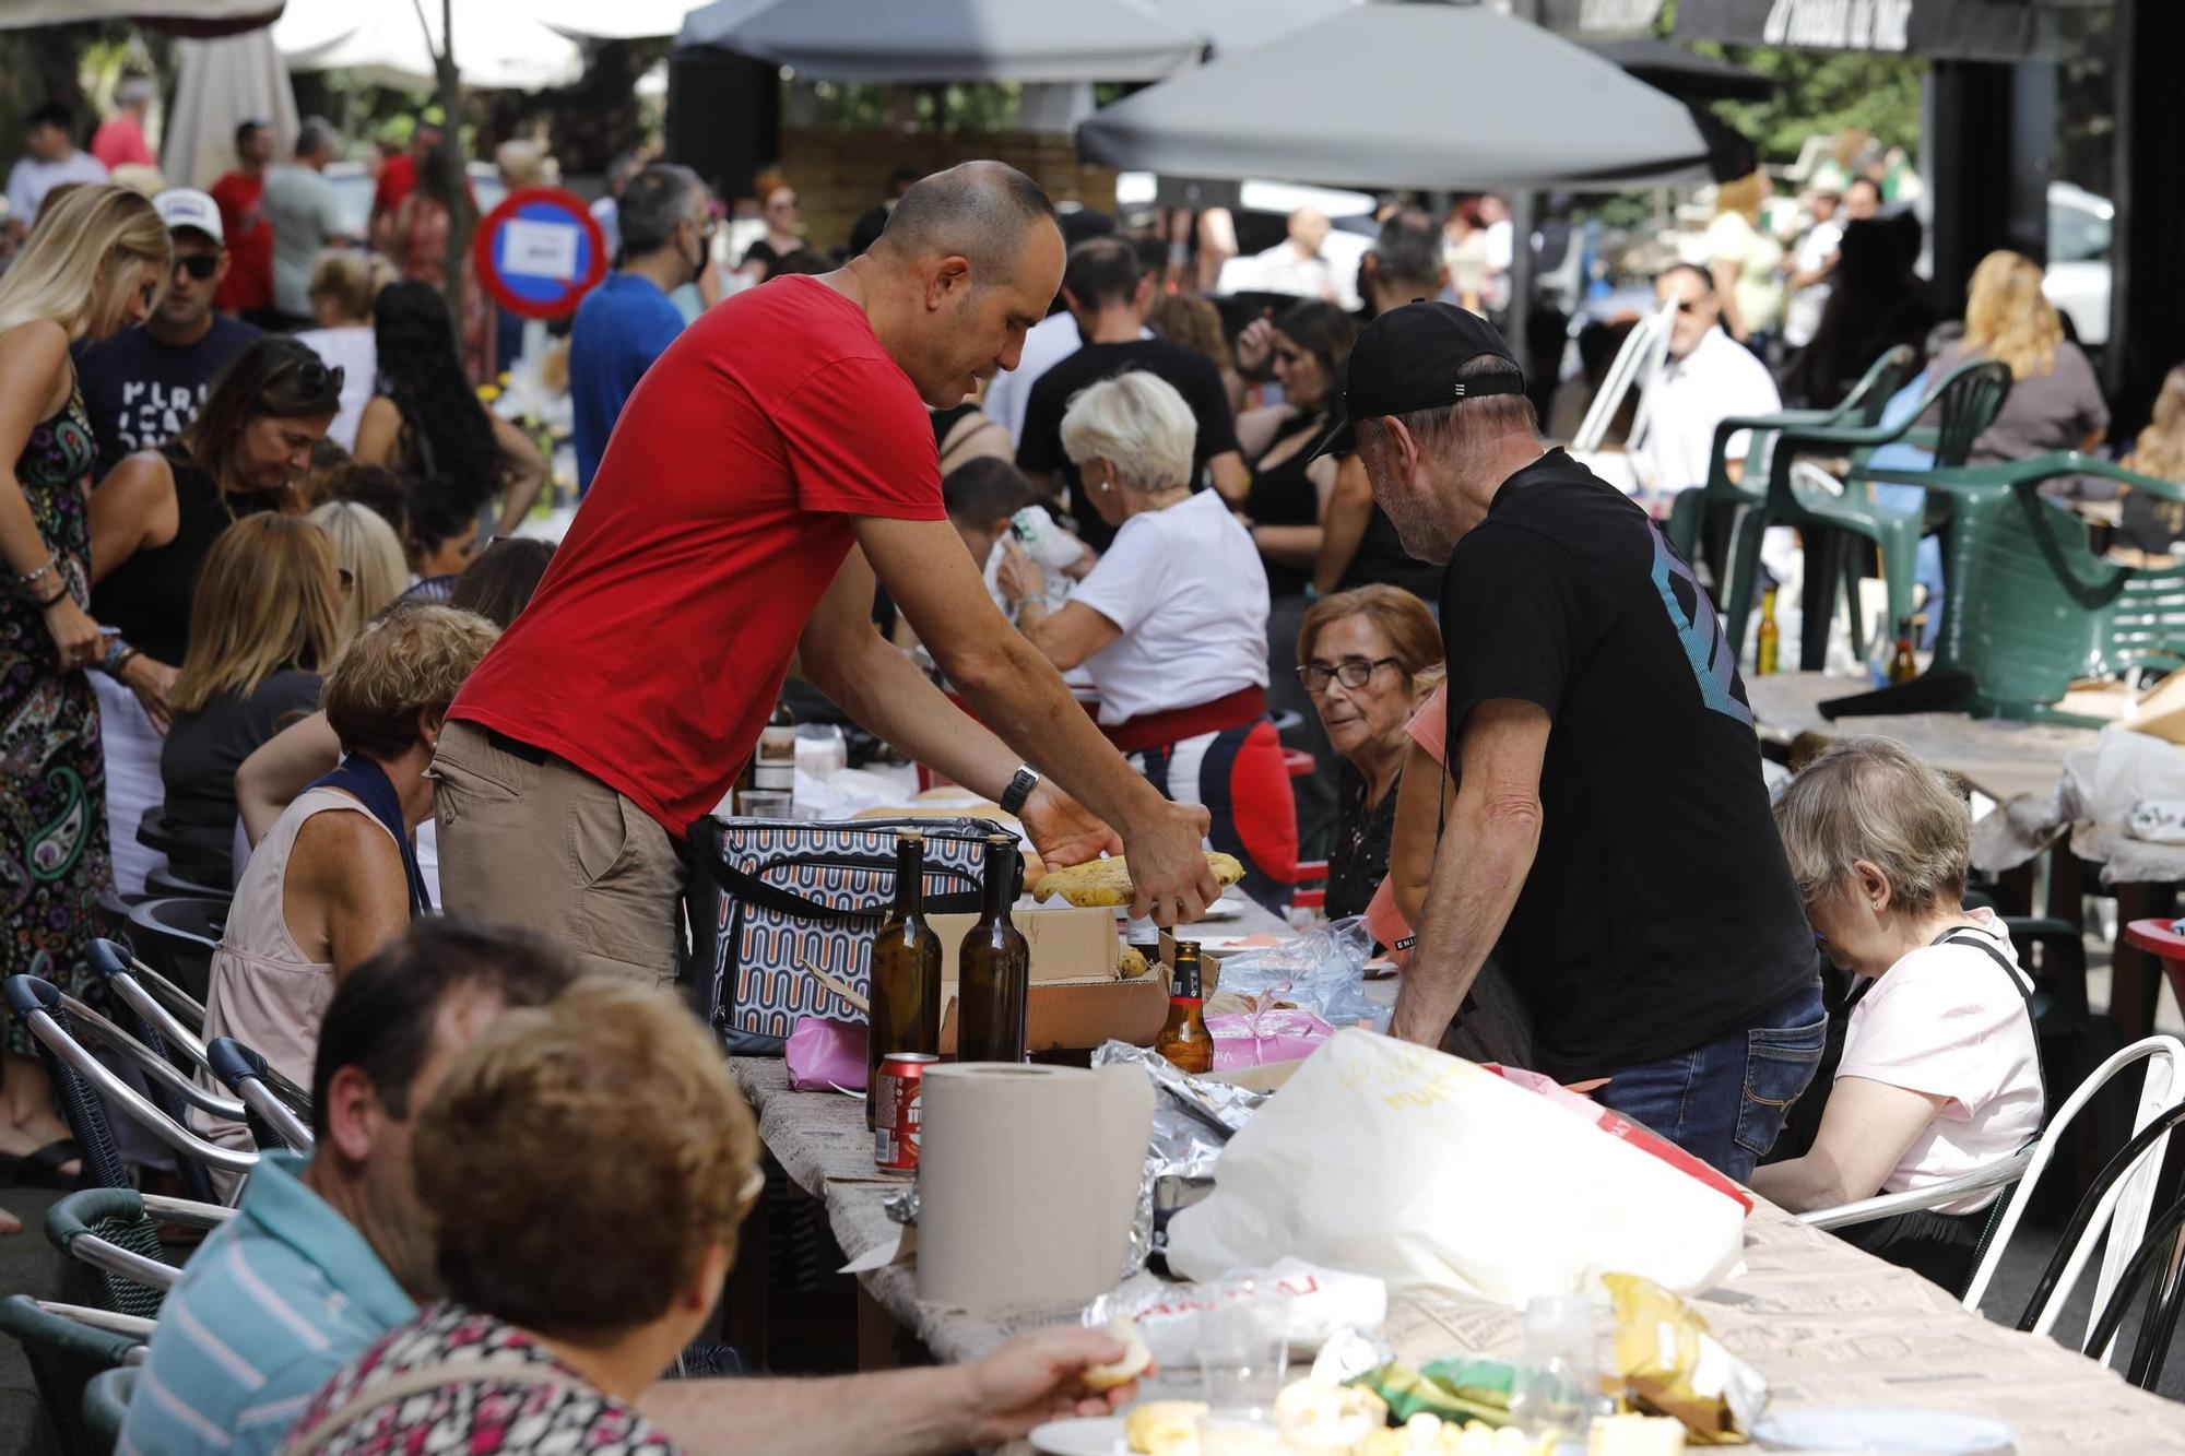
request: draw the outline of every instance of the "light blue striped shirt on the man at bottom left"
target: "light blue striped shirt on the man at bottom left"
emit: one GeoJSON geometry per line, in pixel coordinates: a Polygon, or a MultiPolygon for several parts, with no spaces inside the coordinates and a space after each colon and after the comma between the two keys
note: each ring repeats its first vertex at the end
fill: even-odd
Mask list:
{"type": "Polygon", "coordinates": [[[269,1456],[334,1371],[417,1314],[302,1170],[262,1159],[160,1305],[118,1456],[269,1456]]]}

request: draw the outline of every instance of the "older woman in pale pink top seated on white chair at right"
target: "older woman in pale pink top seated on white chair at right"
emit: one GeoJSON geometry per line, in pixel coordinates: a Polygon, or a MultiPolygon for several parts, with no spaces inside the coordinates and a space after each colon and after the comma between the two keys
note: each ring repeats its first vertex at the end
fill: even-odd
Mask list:
{"type": "MultiPolygon", "coordinates": [[[[1814,1148],[1752,1189],[1807,1211],[1997,1163],[2041,1130],[2032,979],[1993,909],[1964,909],[1971,811],[1894,739],[1842,739],[1783,791],[1776,826],[1820,949],[1857,977],[1814,1148]]],[[[1951,1292],[1999,1189],[1842,1235],[1951,1292]]]]}

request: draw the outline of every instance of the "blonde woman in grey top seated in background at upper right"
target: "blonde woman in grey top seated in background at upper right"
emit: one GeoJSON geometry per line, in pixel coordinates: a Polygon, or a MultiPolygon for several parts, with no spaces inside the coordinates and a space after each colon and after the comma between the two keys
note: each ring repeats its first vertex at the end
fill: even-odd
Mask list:
{"type": "MultiPolygon", "coordinates": [[[[2041,265],[2032,258],[1995,251],[1973,269],[1964,341],[1942,356],[1940,374],[1971,359],[2010,365],[2010,398],[1973,442],[1971,463],[2093,450],[2109,435],[2109,404],[2093,365],[2063,337],[2063,319],[2041,295],[2041,265]]],[[[2067,481],[2052,485],[2058,494],[2069,490],[2067,481]]]]}

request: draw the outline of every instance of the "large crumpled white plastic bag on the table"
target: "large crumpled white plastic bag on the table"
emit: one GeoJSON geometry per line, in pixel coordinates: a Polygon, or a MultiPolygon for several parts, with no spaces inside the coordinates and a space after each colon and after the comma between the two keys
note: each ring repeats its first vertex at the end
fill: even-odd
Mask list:
{"type": "Polygon", "coordinates": [[[1586,1108],[1337,1032],[1221,1150],[1213,1196],[1169,1224],[1169,1268],[1217,1279],[1294,1255],[1508,1305],[1613,1270],[1680,1294],[1728,1277],[1750,1207],[1735,1185],[1586,1108]]]}

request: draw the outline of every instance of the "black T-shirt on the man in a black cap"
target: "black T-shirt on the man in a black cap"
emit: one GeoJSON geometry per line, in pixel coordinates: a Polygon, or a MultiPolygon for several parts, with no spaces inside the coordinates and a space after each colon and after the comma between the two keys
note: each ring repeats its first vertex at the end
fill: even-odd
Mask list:
{"type": "Polygon", "coordinates": [[[1519,470],[1449,557],[1442,641],[1449,763],[1481,702],[1554,719],[1499,951],[1543,1071],[1689,1052],[1811,982],[1737,658],[1643,509],[1562,450],[1519,470]]]}

